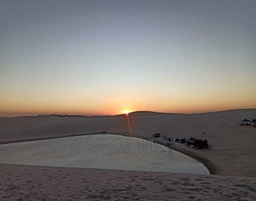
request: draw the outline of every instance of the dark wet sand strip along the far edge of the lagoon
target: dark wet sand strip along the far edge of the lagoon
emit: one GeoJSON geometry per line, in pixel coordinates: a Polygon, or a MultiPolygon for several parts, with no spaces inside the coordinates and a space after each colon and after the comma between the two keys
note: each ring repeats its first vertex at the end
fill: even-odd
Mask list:
{"type": "MultiPolygon", "coordinates": [[[[11,141],[7,141],[7,142],[0,142],[0,145],[4,145],[4,144],[11,144],[11,143],[23,143],[23,142],[31,142],[31,141],[39,141],[39,140],[52,140],[52,139],[59,139],[59,138],[65,138],[65,137],[78,137],[78,136],[86,136],[86,135],[94,135],[94,134],[102,134],[99,132],[95,132],[95,133],[86,133],[86,134],[67,134],[64,136],[56,136],[56,137],[40,137],[40,138],[31,138],[31,139],[25,139],[25,140],[11,140],[11,141]]],[[[137,137],[143,140],[147,140],[147,141],[151,141],[152,138],[151,137],[143,137],[140,135],[134,135],[134,136],[128,136],[127,134],[117,134],[117,133],[108,133],[108,134],[116,134],[116,135],[121,135],[121,136],[125,136],[125,137],[137,137]]],[[[204,159],[203,157],[200,157],[198,155],[196,155],[195,153],[189,152],[185,149],[182,148],[178,148],[176,146],[172,146],[172,145],[167,145],[165,143],[159,142],[159,145],[163,145],[167,148],[170,148],[173,151],[177,151],[179,153],[182,153],[186,156],[191,157],[192,159],[195,159],[197,162],[202,163],[206,169],[209,171],[210,175],[217,175],[217,168],[215,167],[215,165],[213,164],[213,162],[210,162],[208,159],[204,159]]]]}

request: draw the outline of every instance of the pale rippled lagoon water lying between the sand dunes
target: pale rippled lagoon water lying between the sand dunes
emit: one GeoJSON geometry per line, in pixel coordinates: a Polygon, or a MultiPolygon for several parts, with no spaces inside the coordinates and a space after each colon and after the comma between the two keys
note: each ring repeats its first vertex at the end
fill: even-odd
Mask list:
{"type": "Polygon", "coordinates": [[[0,145],[0,163],[209,174],[182,153],[135,137],[96,134],[0,145]]]}

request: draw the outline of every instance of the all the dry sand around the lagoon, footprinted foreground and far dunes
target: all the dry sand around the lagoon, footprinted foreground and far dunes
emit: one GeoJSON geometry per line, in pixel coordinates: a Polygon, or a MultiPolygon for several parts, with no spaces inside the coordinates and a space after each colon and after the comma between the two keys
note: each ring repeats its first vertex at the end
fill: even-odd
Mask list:
{"type": "Polygon", "coordinates": [[[113,134],[144,139],[151,139],[154,132],[170,137],[207,138],[209,148],[206,150],[192,149],[180,143],[167,146],[198,159],[214,174],[184,175],[1,164],[1,196],[6,200],[15,197],[25,200],[43,197],[47,200],[255,200],[256,128],[239,126],[243,118],[256,118],[256,110],[192,115],[135,113],[129,115],[131,131],[125,115],[0,118],[0,143],[97,134],[103,129],[113,134]],[[82,182],[83,179],[86,181],[82,182]]]}

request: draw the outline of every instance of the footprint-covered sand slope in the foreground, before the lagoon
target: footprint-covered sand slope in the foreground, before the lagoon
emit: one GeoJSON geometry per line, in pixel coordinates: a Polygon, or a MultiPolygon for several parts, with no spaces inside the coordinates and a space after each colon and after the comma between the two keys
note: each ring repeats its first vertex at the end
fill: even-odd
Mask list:
{"type": "Polygon", "coordinates": [[[255,200],[255,178],[0,164],[0,200],[255,200]]]}

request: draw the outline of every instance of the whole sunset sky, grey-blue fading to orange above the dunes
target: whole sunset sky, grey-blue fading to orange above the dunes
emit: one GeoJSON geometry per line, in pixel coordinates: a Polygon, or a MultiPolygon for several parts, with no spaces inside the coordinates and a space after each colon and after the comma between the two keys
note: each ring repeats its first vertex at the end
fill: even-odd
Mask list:
{"type": "Polygon", "coordinates": [[[256,108],[256,1],[0,0],[0,115],[256,108]]]}

